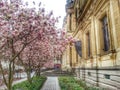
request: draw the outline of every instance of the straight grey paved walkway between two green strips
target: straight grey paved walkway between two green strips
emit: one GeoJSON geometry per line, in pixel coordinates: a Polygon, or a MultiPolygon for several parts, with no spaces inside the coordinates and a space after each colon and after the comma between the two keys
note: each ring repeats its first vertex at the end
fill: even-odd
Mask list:
{"type": "Polygon", "coordinates": [[[47,81],[41,90],[60,90],[57,77],[47,77],[47,81]]]}

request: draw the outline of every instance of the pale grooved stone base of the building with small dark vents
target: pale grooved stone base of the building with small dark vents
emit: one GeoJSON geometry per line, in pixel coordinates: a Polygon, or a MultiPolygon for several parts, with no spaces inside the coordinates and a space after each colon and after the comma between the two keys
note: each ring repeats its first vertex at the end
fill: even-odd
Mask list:
{"type": "Polygon", "coordinates": [[[120,90],[119,68],[77,68],[76,73],[77,77],[85,80],[88,86],[97,86],[105,90],[120,90]]]}

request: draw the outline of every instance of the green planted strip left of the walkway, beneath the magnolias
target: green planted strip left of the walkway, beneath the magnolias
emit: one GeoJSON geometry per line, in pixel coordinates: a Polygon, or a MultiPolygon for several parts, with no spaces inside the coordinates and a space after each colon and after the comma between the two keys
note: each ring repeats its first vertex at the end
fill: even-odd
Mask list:
{"type": "Polygon", "coordinates": [[[28,81],[23,81],[12,87],[12,90],[40,90],[43,86],[46,77],[44,76],[35,76],[33,77],[32,84],[28,81]]]}

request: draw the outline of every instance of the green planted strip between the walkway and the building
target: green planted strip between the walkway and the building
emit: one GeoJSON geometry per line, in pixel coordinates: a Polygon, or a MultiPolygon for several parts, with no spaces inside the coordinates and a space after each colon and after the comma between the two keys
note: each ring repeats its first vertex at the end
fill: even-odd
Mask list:
{"type": "Polygon", "coordinates": [[[104,90],[95,87],[87,87],[85,82],[76,80],[74,77],[70,76],[59,77],[58,80],[61,90],[104,90]]]}

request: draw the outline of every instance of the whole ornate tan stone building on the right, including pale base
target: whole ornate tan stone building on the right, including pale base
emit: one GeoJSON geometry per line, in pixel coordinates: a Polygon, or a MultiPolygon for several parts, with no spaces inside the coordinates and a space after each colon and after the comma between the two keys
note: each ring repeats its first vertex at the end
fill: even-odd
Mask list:
{"type": "Polygon", "coordinates": [[[88,85],[120,90],[120,0],[67,0],[68,45],[62,67],[75,69],[88,85]]]}

